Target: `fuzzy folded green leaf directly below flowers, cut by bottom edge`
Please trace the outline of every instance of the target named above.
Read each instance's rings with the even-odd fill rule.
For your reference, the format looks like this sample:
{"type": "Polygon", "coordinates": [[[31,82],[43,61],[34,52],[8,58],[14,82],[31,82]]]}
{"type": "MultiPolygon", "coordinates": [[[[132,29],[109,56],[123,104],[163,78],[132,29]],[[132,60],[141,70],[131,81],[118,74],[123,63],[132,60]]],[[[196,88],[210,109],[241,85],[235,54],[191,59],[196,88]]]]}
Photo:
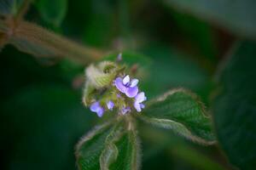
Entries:
{"type": "Polygon", "coordinates": [[[136,170],[139,167],[137,133],[125,130],[123,124],[104,124],[80,140],[76,151],[79,169],[136,170]]]}

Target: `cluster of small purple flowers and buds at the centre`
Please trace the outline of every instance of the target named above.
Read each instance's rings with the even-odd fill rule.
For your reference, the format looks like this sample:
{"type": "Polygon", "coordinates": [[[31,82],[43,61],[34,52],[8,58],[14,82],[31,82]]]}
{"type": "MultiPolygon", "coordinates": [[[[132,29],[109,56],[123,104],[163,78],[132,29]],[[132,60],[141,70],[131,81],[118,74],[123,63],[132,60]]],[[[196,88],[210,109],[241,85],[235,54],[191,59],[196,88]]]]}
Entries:
{"type": "Polygon", "coordinates": [[[119,114],[125,115],[131,112],[132,106],[137,112],[141,112],[145,107],[143,101],[147,100],[144,92],[139,92],[137,86],[138,79],[131,79],[129,75],[125,77],[116,77],[113,80],[113,90],[111,95],[104,104],[101,105],[99,101],[95,101],[90,105],[90,111],[96,112],[97,116],[103,116],[104,111],[113,111],[114,107],[119,114]]]}

